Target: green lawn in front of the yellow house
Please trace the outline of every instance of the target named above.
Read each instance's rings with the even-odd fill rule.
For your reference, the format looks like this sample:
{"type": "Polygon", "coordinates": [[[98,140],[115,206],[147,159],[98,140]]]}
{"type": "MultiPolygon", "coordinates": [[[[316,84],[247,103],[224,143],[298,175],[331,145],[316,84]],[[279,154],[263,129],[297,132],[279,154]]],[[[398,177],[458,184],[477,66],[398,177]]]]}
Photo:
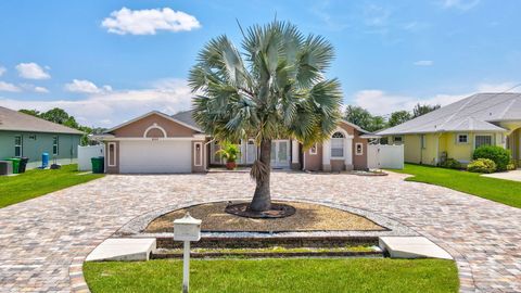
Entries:
{"type": "Polygon", "coordinates": [[[403,170],[392,170],[414,175],[407,181],[417,181],[446,187],[491,201],[521,207],[521,182],[501,180],[454,169],[405,164],[403,170]]]}

